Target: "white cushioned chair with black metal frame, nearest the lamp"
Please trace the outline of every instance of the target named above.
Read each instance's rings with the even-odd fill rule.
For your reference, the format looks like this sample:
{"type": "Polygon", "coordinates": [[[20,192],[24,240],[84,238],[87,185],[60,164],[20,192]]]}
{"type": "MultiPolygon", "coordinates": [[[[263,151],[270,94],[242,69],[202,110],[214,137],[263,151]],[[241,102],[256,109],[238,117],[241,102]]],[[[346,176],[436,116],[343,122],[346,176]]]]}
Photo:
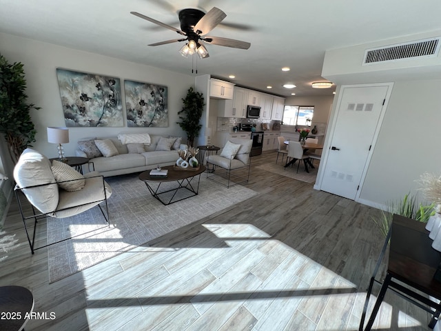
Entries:
{"type": "MultiPolygon", "coordinates": [[[[16,182],[14,192],[19,203],[21,218],[23,219],[32,254],[34,254],[35,250],[54,244],[47,243],[41,247],[35,247],[37,223],[41,219],[47,217],[70,217],[98,205],[105,221],[109,223],[107,198],[112,194],[112,188],[98,172],[85,174],[83,179],[57,182],[51,170],[50,160],[36,150],[27,148],[21,154],[17,165],[14,167],[14,180],[16,182]],[[59,187],[59,183],[78,180],[84,181],[84,186],[80,190],[67,191],[59,187]],[[32,214],[30,214],[30,208],[25,208],[26,200],[32,207],[32,214]],[[105,203],[106,212],[103,211],[100,203],[105,203]],[[30,238],[30,230],[27,225],[29,220],[33,220],[34,223],[32,239],[30,238]]],[[[71,238],[73,237],[61,241],[71,238]]]]}

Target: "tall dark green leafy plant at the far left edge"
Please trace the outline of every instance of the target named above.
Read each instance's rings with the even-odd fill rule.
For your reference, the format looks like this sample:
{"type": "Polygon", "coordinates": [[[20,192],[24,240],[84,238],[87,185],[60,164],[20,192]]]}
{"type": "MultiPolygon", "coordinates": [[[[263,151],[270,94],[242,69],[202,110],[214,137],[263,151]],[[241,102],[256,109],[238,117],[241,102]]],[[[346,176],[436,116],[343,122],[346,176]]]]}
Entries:
{"type": "Polygon", "coordinates": [[[14,163],[21,152],[35,141],[37,131],[30,117],[30,110],[39,110],[33,103],[26,103],[26,81],[23,64],[8,63],[0,54],[0,132],[8,143],[8,151],[14,163]]]}

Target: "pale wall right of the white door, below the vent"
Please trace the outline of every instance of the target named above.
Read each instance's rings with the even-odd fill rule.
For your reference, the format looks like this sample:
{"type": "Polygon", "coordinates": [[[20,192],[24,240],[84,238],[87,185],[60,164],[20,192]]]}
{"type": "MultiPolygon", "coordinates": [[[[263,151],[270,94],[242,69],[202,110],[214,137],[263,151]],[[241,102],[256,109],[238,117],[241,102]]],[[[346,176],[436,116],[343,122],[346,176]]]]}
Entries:
{"type": "Polygon", "coordinates": [[[360,199],[386,204],[441,174],[441,79],[396,81],[360,199]]]}

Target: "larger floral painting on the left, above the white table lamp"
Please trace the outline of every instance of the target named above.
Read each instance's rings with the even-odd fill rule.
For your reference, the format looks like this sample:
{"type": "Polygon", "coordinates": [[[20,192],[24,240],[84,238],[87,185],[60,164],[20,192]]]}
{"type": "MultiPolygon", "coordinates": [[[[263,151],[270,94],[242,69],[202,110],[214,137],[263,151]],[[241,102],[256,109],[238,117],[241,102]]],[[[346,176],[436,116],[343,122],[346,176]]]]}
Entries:
{"type": "Polygon", "coordinates": [[[119,78],[57,68],[68,127],[124,126],[119,78]]]}

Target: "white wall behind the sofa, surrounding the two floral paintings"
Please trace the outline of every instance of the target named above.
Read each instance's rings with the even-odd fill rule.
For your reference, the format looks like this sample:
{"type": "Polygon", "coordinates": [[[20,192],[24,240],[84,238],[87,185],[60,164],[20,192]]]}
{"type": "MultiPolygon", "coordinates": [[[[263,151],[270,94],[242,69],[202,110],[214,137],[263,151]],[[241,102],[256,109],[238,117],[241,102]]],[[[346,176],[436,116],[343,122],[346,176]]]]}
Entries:
{"type": "MultiPolygon", "coordinates": [[[[0,33],[0,50],[10,63],[19,61],[24,65],[25,78],[28,83],[28,101],[41,107],[41,110],[32,112],[32,119],[37,129],[37,142],[34,143],[34,148],[48,157],[58,157],[58,154],[57,146],[47,142],[46,128],[65,126],[56,68],[104,74],[121,79],[125,127],[70,128],[70,143],[63,144],[66,155],[74,155],[76,141],[81,138],[111,137],[120,132],[147,131],[152,134],[173,134],[184,137],[184,140],[187,139],[185,132],[176,124],[176,121],[178,121],[177,112],[182,108],[181,99],[185,97],[188,88],[194,86],[194,77],[190,75],[55,46],[11,34],[0,33]],[[125,79],[167,86],[168,128],[127,128],[123,89],[125,79]]],[[[147,49],[145,56],[148,57],[147,49]]]]}

